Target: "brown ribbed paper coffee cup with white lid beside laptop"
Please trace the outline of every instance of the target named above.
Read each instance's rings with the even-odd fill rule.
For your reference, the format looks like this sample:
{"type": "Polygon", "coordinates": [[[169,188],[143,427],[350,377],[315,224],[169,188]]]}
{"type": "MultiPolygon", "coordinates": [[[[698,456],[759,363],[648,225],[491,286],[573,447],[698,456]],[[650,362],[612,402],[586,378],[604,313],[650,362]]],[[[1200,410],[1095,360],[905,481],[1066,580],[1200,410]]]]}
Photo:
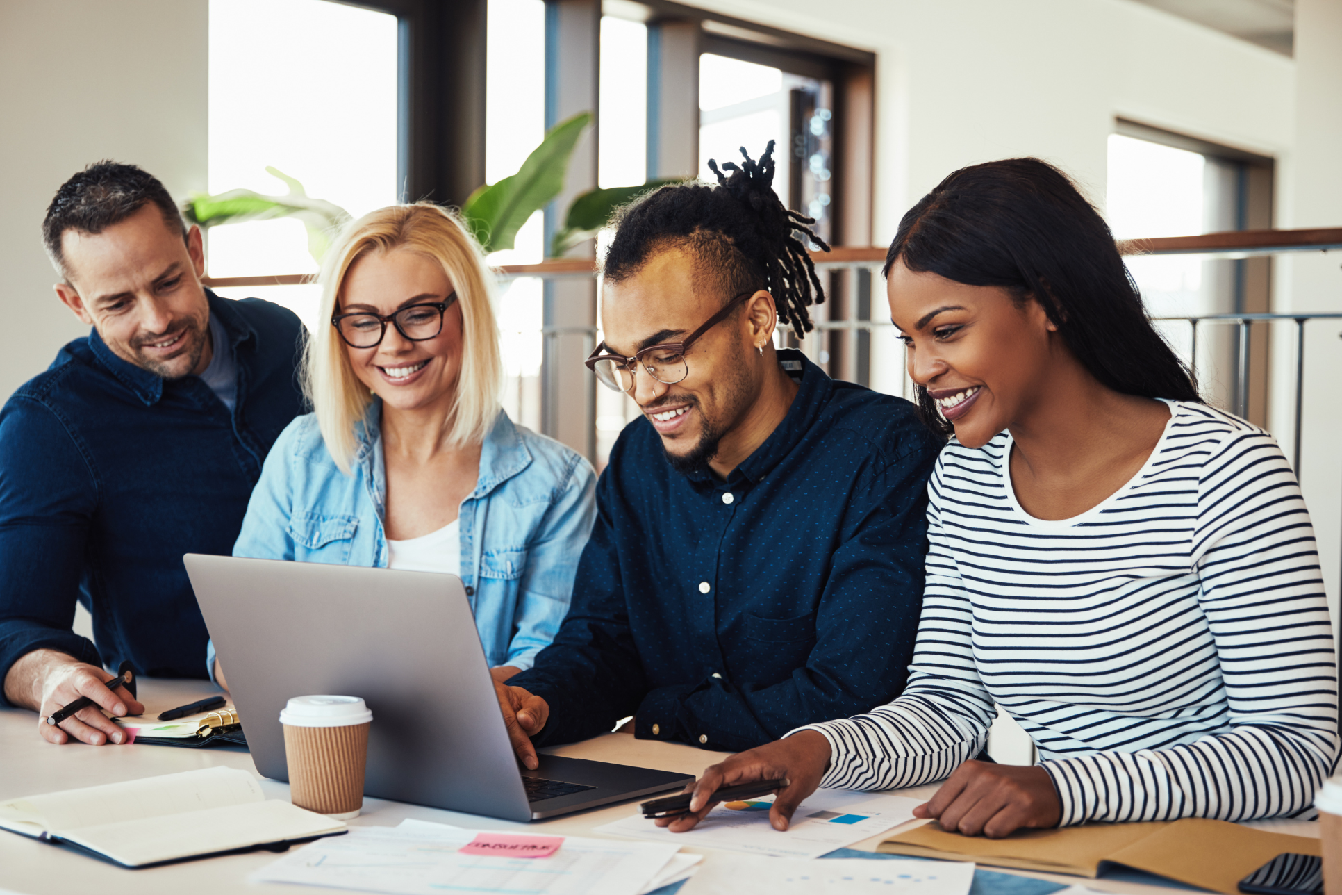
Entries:
{"type": "Polygon", "coordinates": [[[364,808],[364,766],[373,713],[358,696],[294,696],[279,713],[289,759],[289,796],[299,808],[338,820],[364,808]]]}

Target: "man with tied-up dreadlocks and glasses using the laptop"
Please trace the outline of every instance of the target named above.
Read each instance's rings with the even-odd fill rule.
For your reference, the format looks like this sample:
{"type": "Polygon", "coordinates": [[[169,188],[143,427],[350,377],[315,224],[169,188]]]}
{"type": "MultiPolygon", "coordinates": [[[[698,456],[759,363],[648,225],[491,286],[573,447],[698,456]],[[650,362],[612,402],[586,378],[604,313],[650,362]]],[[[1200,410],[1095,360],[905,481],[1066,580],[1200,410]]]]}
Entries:
{"type": "MultiPolygon", "coordinates": [[[[741,150],[745,156],[745,149],[741,150]]],[[[535,666],[498,684],[513,745],[609,731],[715,750],[866,711],[903,690],[922,602],[926,483],[941,444],[907,401],[800,352],[820,282],[770,187],[773,144],[718,185],[627,208],[588,366],[628,392],[573,604],[535,666]]]]}

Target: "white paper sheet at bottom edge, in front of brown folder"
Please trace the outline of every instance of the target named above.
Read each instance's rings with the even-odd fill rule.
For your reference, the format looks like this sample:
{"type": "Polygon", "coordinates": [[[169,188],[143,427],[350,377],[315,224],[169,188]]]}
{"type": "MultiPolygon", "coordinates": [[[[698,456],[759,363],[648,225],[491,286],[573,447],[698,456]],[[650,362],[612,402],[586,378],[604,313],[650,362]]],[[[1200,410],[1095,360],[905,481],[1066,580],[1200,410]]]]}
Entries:
{"type": "Polygon", "coordinates": [[[973,864],[953,861],[711,855],[679,895],[968,895],[973,880],[973,864]]]}

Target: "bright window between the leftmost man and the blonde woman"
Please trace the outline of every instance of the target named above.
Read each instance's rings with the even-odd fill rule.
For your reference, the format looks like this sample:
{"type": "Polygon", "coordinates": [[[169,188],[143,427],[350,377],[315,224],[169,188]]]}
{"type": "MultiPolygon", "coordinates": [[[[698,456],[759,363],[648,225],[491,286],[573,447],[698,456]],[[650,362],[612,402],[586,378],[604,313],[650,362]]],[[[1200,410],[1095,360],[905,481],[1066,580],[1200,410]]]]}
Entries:
{"type": "MultiPolygon", "coordinates": [[[[283,195],[272,166],[358,216],[396,201],[396,16],[329,0],[211,0],[209,192],[283,195]]],[[[212,227],[211,276],[309,274],[295,219],[212,227]]],[[[315,286],[221,288],[311,326],[315,286]]]]}

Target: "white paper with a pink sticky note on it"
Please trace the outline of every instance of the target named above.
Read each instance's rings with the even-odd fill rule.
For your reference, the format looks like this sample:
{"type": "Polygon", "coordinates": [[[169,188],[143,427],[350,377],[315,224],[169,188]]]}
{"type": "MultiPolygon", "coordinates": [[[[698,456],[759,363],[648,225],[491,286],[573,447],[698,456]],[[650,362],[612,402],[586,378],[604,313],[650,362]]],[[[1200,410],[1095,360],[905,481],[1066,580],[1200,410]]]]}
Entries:
{"type": "Polygon", "coordinates": [[[679,845],[565,837],[550,857],[460,855],[478,833],[424,821],[356,827],[280,857],[252,883],[305,883],[392,895],[526,892],[527,895],[637,895],[679,845]]]}

